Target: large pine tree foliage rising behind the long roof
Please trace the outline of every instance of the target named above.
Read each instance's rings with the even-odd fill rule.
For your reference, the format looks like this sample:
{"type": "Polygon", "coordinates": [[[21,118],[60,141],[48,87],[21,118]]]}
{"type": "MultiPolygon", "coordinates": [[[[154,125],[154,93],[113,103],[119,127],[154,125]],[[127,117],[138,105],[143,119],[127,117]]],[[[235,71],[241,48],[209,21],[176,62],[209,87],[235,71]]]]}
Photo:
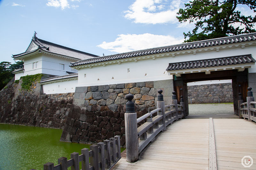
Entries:
{"type": "Polygon", "coordinates": [[[180,9],[177,19],[182,22],[195,22],[192,33],[183,33],[185,42],[193,42],[212,38],[239,35],[256,32],[253,26],[255,16],[244,16],[237,9],[241,5],[248,6],[256,12],[256,0],[194,0],[185,4],[185,9],[180,9]],[[240,6],[238,6],[240,5],[240,6]],[[234,27],[239,24],[242,27],[234,27]],[[245,28],[243,28],[245,27],[245,28]],[[198,31],[201,31],[198,33],[198,31]]]}

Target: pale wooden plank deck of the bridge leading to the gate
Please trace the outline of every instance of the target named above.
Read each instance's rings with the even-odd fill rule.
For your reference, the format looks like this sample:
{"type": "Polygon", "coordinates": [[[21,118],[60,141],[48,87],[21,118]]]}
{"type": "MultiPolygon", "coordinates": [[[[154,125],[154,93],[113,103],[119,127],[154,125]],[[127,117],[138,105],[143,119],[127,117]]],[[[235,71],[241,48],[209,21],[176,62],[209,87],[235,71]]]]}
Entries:
{"type": "MultiPolygon", "coordinates": [[[[244,156],[254,158],[256,125],[242,119],[213,119],[217,169],[245,169],[244,156]]],[[[209,119],[183,119],[156,137],[135,163],[121,158],[116,170],[209,169],[209,119]]]]}

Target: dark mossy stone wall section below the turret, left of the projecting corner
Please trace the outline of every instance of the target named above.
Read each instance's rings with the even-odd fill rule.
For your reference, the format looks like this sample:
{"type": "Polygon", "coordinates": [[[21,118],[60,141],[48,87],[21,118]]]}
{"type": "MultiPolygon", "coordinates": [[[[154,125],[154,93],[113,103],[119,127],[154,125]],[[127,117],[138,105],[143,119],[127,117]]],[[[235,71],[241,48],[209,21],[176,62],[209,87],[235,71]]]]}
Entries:
{"type": "Polygon", "coordinates": [[[29,91],[13,83],[0,92],[0,122],[19,125],[64,128],[73,102],[73,93],[41,95],[41,85],[34,82],[29,91]]]}

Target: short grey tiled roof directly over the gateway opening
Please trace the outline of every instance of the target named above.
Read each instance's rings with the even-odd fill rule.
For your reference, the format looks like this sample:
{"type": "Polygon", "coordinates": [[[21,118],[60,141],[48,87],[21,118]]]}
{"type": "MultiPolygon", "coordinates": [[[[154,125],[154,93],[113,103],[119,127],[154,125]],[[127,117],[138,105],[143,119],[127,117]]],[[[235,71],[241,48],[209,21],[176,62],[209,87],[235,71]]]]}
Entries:
{"type": "Polygon", "coordinates": [[[170,70],[184,70],[193,68],[203,68],[203,67],[215,67],[215,66],[227,66],[245,63],[255,63],[256,60],[252,58],[251,54],[224,58],[213,58],[195,61],[186,61],[179,63],[169,63],[167,71],[170,70]]]}

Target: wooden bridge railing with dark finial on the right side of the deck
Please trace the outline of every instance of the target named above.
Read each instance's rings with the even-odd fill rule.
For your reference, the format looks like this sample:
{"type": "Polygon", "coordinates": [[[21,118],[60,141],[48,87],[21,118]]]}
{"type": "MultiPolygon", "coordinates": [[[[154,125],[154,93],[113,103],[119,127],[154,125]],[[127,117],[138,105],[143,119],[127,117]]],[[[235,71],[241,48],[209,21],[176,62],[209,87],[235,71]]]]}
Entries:
{"type": "Polygon", "coordinates": [[[248,87],[246,102],[243,103],[242,99],[240,99],[241,93],[239,93],[238,104],[240,105],[239,108],[239,118],[247,118],[248,120],[253,120],[256,122],[256,108],[254,102],[254,97],[252,96],[252,88],[248,87]]]}

